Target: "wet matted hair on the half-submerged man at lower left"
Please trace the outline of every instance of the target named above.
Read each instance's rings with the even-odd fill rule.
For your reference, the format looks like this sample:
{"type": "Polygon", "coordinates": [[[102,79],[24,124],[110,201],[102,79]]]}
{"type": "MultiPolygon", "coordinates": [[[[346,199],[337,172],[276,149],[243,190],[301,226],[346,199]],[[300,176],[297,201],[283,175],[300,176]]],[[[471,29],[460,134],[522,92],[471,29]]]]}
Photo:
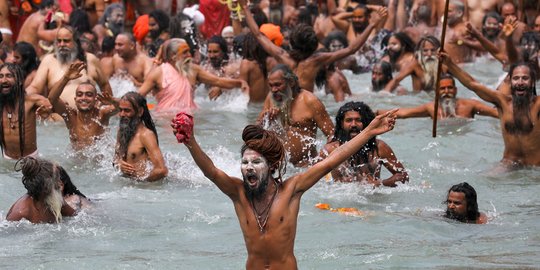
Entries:
{"type": "Polygon", "coordinates": [[[15,163],[15,171],[21,171],[22,183],[27,194],[35,200],[44,200],[53,189],[58,189],[59,172],[52,162],[34,157],[24,157],[15,163]]]}

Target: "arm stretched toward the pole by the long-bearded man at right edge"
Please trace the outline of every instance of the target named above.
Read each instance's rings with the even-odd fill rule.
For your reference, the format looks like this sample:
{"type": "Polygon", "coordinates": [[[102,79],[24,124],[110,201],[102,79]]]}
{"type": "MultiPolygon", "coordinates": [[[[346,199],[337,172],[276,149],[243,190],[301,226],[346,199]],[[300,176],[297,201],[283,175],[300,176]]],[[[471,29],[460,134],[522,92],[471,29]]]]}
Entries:
{"type": "Polygon", "coordinates": [[[469,75],[469,73],[457,66],[445,52],[439,53],[439,61],[443,61],[448,67],[448,72],[454,75],[454,77],[456,77],[469,90],[475,92],[476,95],[478,95],[481,99],[493,103],[499,107],[506,99],[504,94],[493,91],[487,88],[485,85],[477,82],[471,75],[469,75]]]}

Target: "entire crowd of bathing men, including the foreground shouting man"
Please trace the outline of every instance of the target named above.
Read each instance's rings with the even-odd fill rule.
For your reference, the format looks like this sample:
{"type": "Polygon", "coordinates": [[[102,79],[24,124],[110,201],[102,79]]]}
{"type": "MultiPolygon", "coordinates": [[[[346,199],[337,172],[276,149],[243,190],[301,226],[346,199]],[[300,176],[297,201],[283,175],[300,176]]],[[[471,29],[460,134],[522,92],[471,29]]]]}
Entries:
{"type": "MultiPolygon", "coordinates": [[[[62,166],[40,157],[38,118],[64,121],[73,150],[84,151],[118,117],[114,166],[128,178],[159,181],[168,168],[153,118],[181,112],[173,132],[231,198],[249,269],[296,269],[300,198],[325,175],[373,186],[409,181],[392,148],[376,138],[396,118],[498,118],[501,169],[540,166],[537,1],[449,0],[442,41],[444,0],[111,2],[0,5],[0,146],[5,159],[18,160],[28,191],[7,220],[59,222],[90,205],[62,166]],[[497,89],[462,68],[478,57],[508,72],[497,89]],[[371,73],[374,92],[438,91],[439,100],[373,110],[377,104],[352,100],[348,72],[371,73]],[[411,85],[401,85],[407,77],[411,85]],[[111,87],[113,78],[134,91],[111,87]],[[458,98],[456,79],[485,102],[458,98]],[[242,133],[243,179],[215,167],[193,132],[195,91],[217,99],[233,88],[263,107],[242,133]],[[316,89],[346,101],[334,121],[316,89]],[[153,108],[148,95],[157,101],[153,108]],[[327,138],[319,150],[317,130],[327,138]],[[301,172],[285,179],[287,163],[301,172]],[[381,178],[382,167],[390,177],[381,178]]],[[[446,217],[488,221],[466,182],[446,197],[446,217]]]]}

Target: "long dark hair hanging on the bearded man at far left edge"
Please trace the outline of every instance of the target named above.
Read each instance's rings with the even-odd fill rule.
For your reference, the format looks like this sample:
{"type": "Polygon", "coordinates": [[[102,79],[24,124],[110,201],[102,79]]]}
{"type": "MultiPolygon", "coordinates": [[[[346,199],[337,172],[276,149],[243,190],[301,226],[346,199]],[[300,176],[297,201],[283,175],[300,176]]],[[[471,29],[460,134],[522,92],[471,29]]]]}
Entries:
{"type": "MultiPolygon", "coordinates": [[[[20,155],[24,155],[24,137],[25,137],[25,129],[24,129],[24,121],[25,121],[25,113],[24,113],[24,99],[26,96],[26,91],[24,90],[24,76],[23,71],[19,65],[12,64],[12,63],[4,63],[0,65],[0,70],[3,68],[7,68],[11,74],[13,74],[13,77],[15,79],[15,84],[12,86],[13,89],[13,98],[17,102],[17,104],[14,104],[15,110],[17,110],[18,118],[18,124],[19,124],[19,150],[20,155]]],[[[2,100],[0,102],[0,112],[4,112],[4,105],[5,102],[2,100]]],[[[4,138],[4,121],[0,121],[0,148],[2,150],[2,153],[4,152],[4,146],[6,144],[5,138],[4,138]]]]}

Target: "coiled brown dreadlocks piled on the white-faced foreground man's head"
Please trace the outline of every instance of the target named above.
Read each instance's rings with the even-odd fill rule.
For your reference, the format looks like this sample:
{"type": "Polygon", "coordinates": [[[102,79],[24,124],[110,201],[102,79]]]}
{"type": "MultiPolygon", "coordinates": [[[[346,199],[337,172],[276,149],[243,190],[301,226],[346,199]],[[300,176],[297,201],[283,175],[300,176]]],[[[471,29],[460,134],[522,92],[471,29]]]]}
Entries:
{"type": "Polygon", "coordinates": [[[282,183],[286,165],[285,148],[277,134],[258,125],[248,125],[242,131],[242,140],[244,145],[240,150],[240,154],[244,155],[247,149],[261,154],[268,161],[272,175],[274,172],[278,172],[278,176],[274,178],[274,181],[282,183]]]}

